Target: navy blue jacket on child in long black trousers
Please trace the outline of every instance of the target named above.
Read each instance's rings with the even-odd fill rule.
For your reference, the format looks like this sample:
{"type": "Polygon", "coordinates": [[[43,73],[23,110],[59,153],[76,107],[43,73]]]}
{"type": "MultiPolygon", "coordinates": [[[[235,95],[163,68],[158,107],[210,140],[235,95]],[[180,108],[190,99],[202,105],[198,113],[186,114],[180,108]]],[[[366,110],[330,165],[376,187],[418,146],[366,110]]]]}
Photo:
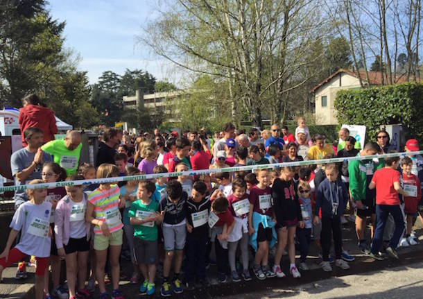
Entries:
{"type": "Polygon", "coordinates": [[[339,178],[335,182],[329,182],[329,180],[325,178],[318,187],[314,214],[318,216],[321,208],[322,216],[340,216],[343,214],[345,207],[347,207],[347,202],[348,194],[345,184],[339,178]],[[338,209],[335,215],[332,213],[332,203],[338,203],[338,209]]]}

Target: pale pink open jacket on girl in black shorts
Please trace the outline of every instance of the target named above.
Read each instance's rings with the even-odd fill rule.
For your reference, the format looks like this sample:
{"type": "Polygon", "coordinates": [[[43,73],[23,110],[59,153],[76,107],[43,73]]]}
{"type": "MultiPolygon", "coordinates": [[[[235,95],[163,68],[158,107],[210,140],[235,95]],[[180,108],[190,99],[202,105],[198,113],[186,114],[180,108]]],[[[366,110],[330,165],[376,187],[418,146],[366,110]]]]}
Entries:
{"type": "MultiPolygon", "coordinates": [[[[84,200],[88,202],[88,196],[84,192],[84,200]]],[[[64,196],[59,200],[58,205],[55,207],[54,214],[54,234],[55,244],[58,249],[63,248],[63,245],[67,245],[69,242],[70,235],[70,218],[71,209],[69,208],[69,196],[64,196]]],[[[86,222],[87,241],[91,235],[91,224],[86,222]]]]}

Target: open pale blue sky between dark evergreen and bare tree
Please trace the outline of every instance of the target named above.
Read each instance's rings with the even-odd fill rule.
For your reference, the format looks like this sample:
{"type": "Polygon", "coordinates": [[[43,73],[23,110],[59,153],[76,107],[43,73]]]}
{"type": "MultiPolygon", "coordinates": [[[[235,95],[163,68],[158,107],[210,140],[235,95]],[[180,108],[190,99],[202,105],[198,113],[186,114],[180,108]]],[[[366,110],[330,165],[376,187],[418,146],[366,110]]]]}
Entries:
{"type": "Polygon", "coordinates": [[[158,16],[157,0],[49,0],[53,19],[66,21],[64,46],[80,55],[78,69],[96,83],[103,71],[142,69],[175,83],[173,65],[137,42],[142,26],[158,16]]]}

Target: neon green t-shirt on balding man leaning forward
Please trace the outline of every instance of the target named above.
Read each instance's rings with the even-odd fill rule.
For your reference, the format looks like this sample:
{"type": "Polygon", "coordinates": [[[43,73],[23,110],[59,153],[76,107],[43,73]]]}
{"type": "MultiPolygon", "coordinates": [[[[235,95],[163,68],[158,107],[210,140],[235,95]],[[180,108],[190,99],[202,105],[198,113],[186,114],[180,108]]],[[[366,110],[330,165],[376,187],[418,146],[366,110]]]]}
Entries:
{"type": "Polygon", "coordinates": [[[58,139],[47,142],[41,149],[52,155],[54,162],[66,170],[67,176],[71,176],[78,170],[79,155],[82,147],[83,144],[80,143],[73,151],[69,151],[64,145],[64,139],[58,139]]]}

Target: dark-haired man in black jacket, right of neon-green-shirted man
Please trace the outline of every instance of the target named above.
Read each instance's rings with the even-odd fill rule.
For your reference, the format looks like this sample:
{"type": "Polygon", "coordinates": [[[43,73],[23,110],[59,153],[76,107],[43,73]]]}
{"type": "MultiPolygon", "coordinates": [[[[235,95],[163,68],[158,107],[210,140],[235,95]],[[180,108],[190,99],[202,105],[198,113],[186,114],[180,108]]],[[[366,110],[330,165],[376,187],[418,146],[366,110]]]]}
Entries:
{"type": "Polygon", "coordinates": [[[114,164],[116,148],[121,143],[122,133],[115,128],[108,128],[103,133],[103,140],[98,144],[96,167],[103,163],[114,164]]]}

